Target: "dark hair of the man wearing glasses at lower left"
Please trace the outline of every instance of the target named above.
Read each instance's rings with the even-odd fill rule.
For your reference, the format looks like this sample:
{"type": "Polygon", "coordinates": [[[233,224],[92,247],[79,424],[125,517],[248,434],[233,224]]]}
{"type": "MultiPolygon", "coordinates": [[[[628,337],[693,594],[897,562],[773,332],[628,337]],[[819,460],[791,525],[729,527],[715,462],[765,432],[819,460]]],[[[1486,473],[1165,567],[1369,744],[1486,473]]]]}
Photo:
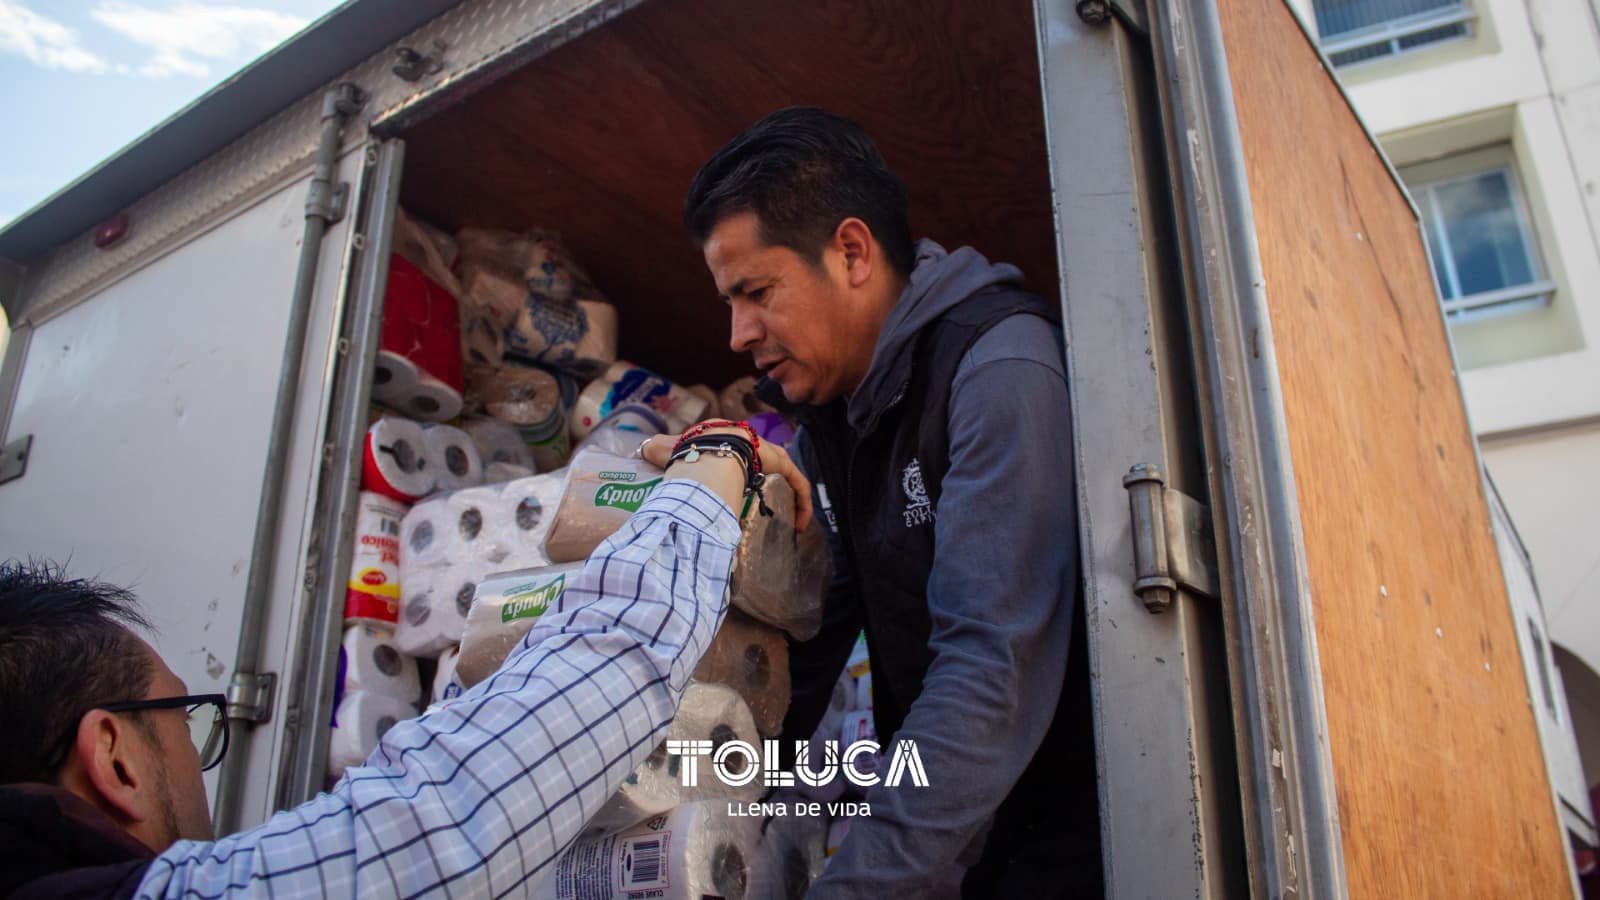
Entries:
{"type": "Polygon", "coordinates": [[[0,562],[0,785],[54,783],[85,713],[144,698],[154,666],[131,625],[149,628],[123,588],[0,562]]]}

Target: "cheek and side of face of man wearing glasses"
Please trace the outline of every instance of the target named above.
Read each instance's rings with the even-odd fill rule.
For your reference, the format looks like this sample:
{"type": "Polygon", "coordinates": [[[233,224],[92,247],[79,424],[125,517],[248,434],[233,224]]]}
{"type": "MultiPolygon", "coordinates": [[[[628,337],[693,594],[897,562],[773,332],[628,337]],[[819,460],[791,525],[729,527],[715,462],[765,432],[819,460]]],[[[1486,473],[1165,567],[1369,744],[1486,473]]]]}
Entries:
{"type": "MultiPolygon", "coordinates": [[[[182,679],[166,668],[155,650],[146,644],[150,655],[152,677],[146,700],[163,700],[168,697],[184,697],[189,689],[182,679]]],[[[210,708],[203,708],[198,716],[211,716],[210,708]]],[[[200,749],[195,748],[189,735],[187,709],[146,709],[139,713],[154,732],[155,741],[150,746],[155,764],[157,802],[162,809],[162,831],[166,846],[173,841],[210,841],[211,810],[205,799],[205,781],[200,777],[200,749]]]]}

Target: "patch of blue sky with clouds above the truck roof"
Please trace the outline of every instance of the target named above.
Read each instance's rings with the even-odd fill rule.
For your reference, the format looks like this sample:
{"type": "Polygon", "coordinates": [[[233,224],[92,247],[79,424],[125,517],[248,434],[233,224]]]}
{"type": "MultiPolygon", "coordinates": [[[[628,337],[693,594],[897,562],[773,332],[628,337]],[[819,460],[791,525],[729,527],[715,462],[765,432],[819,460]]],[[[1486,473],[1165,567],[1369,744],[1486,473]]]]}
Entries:
{"type": "Polygon", "coordinates": [[[341,0],[0,0],[0,226],[341,0]]]}

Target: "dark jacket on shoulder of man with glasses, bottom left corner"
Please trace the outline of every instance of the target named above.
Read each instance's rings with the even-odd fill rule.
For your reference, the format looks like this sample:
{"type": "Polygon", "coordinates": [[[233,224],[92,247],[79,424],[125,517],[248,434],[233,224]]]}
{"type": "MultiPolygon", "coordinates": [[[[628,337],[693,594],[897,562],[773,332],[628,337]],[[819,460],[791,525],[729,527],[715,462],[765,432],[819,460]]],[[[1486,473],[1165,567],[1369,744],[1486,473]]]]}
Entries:
{"type": "Polygon", "coordinates": [[[70,791],[0,786],[0,897],[133,897],[155,854],[70,791]]]}

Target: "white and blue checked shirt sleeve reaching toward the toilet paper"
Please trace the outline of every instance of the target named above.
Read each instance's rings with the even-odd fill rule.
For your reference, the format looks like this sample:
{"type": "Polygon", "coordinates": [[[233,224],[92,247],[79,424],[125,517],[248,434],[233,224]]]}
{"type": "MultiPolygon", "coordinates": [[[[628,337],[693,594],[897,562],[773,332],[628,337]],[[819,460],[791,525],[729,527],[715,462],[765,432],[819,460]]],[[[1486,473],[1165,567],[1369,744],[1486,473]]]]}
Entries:
{"type": "Polygon", "coordinates": [[[523,895],[666,737],[717,631],[739,522],[662,482],[506,665],[394,725],[330,793],[155,858],[139,897],[523,895]]]}

